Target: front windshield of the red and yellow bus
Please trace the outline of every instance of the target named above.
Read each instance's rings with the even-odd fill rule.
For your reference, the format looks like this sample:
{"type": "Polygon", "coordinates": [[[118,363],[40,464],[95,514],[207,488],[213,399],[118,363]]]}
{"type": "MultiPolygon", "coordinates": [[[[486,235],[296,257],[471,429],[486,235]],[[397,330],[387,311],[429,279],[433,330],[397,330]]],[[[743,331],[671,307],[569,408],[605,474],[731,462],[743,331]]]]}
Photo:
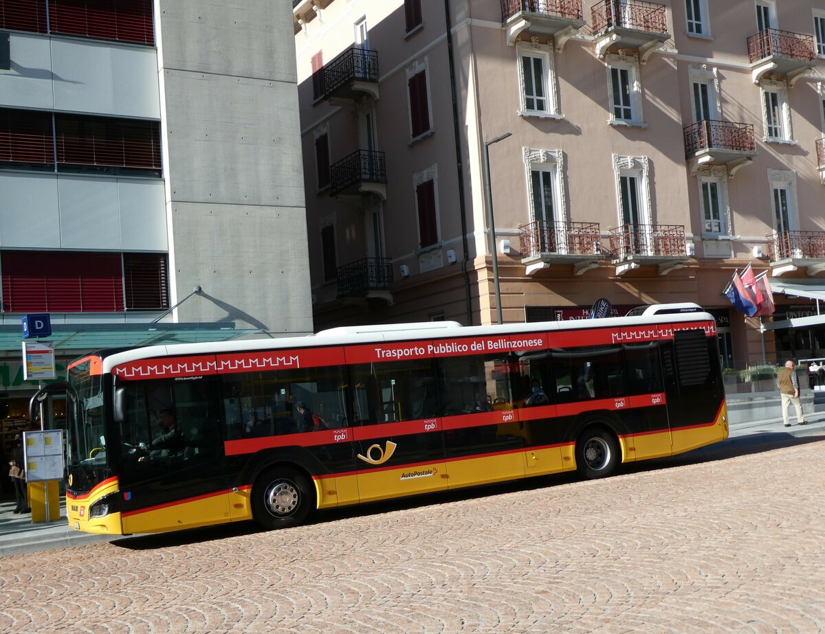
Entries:
{"type": "Polygon", "coordinates": [[[92,359],[68,371],[68,472],[73,491],[88,491],[108,477],[103,418],[103,377],[91,373],[92,359]]]}

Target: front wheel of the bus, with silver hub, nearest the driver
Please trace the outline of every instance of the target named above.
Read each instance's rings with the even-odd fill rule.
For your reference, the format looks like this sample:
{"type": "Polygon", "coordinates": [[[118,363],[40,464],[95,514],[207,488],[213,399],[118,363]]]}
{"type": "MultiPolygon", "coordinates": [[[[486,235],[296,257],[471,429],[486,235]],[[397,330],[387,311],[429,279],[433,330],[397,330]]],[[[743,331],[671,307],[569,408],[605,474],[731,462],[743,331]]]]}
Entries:
{"type": "Polygon", "coordinates": [[[269,530],[298,526],[314,502],[309,478],[291,467],[268,469],[252,485],[252,518],[269,530]]]}

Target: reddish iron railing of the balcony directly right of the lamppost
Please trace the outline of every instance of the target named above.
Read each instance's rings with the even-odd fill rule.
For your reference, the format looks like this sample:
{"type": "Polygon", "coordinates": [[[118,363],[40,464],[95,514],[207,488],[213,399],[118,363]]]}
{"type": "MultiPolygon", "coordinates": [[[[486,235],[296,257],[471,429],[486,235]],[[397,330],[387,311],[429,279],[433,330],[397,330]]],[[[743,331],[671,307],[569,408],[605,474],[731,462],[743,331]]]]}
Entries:
{"type": "Polygon", "coordinates": [[[601,253],[599,223],[555,223],[534,220],[519,227],[521,256],[592,256],[601,253]]]}

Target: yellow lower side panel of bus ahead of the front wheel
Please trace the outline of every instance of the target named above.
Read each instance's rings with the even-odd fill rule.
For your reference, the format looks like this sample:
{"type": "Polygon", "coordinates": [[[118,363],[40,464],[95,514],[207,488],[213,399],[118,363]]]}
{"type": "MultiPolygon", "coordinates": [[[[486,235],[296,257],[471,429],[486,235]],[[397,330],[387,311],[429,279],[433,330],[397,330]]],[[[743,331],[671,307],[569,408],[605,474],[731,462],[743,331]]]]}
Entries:
{"type": "Polygon", "coordinates": [[[229,493],[210,495],[123,517],[123,532],[159,533],[179,528],[196,528],[229,522],[229,493]]]}

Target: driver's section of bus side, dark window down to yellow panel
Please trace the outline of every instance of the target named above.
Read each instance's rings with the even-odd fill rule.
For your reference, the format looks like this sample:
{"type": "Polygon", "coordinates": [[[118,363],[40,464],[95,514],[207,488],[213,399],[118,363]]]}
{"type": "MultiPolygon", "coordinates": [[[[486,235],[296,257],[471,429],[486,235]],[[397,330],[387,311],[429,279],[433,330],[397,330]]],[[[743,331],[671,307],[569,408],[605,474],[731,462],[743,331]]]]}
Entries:
{"type": "Polygon", "coordinates": [[[120,500],[124,533],[229,520],[217,378],[124,383],[120,500]]]}

